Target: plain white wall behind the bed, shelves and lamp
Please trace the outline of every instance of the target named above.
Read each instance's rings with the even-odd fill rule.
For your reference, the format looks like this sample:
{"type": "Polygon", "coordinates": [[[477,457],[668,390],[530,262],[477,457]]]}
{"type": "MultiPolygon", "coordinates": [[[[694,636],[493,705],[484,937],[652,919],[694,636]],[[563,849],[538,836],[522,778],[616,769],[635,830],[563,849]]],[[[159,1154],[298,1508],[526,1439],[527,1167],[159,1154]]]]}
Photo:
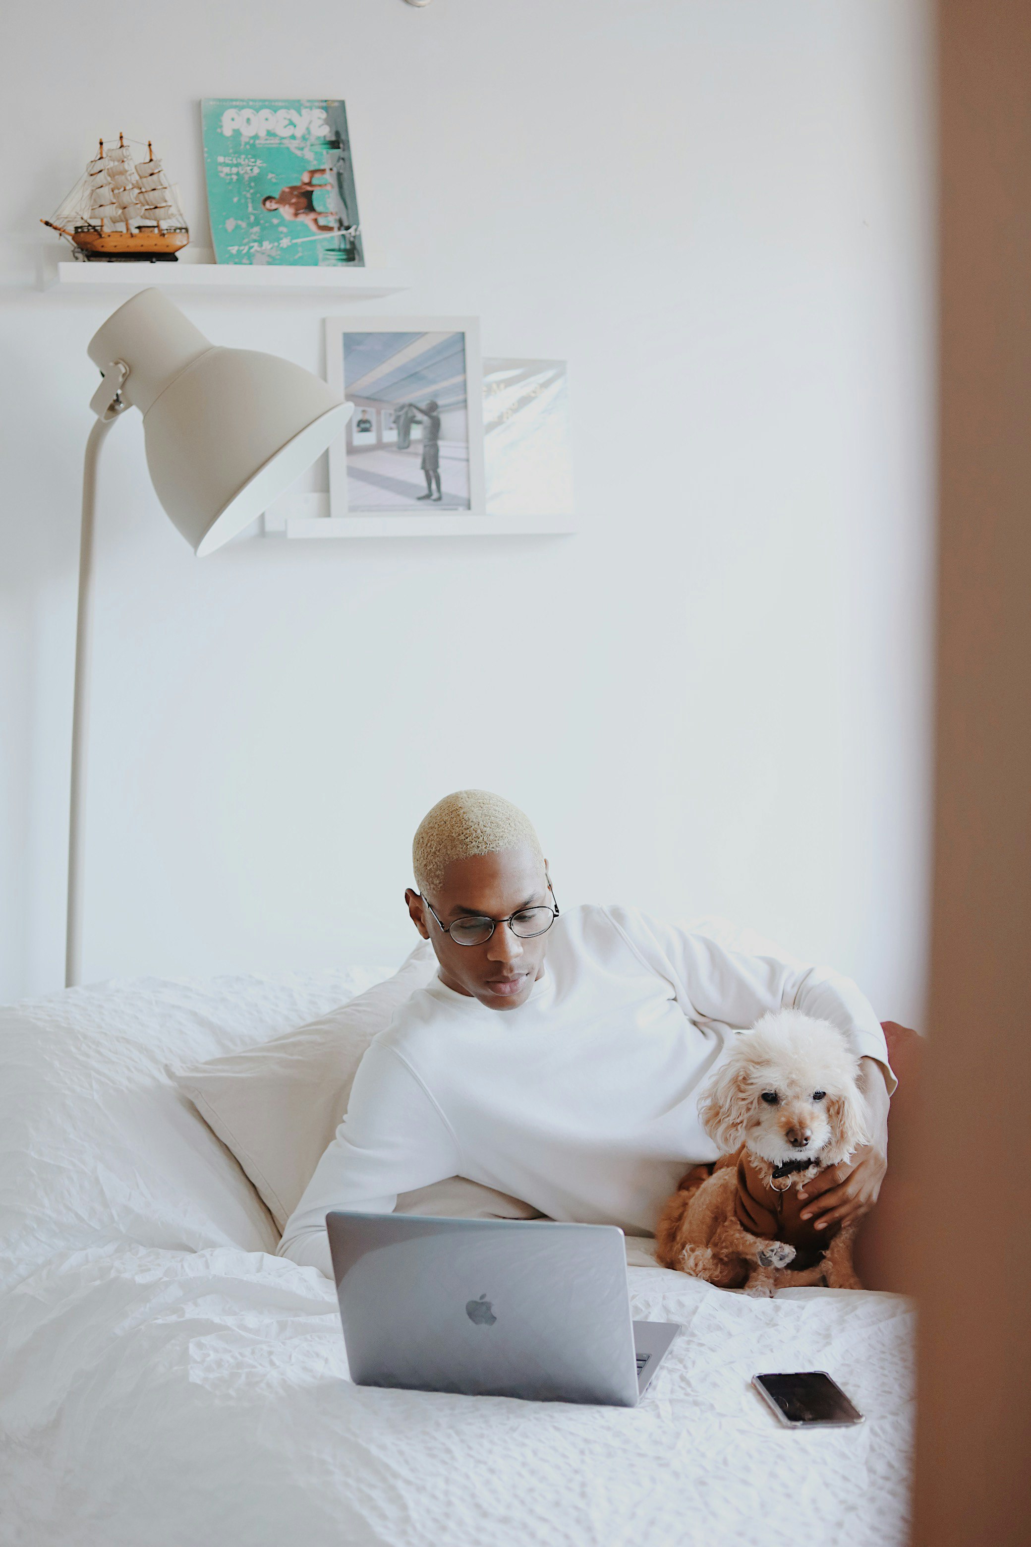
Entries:
{"type": "MultiPolygon", "coordinates": [[[[85,343],[111,309],[26,283],[36,217],[125,128],[204,244],[198,99],[339,94],[369,260],[414,275],[397,309],[569,359],[583,534],[199,562],[119,425],[87,978],[393,959],[416,821],[482,784],[532,812],[564,907],[722,913],[920,1013],[926,50],[917,0],[11,8],[2,998],[60,984],[85,343]]],[[[322,365],[325,303],[184,309],[322,365]]]]}

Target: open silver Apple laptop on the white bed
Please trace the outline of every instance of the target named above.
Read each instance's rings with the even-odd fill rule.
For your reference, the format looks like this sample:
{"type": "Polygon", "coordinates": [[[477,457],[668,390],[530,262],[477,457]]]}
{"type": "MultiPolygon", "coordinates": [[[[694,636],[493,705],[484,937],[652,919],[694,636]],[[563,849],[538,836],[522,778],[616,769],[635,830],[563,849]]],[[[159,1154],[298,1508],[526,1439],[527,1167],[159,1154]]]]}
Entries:
{"type": "Polygon", "coordinates": [[[632,1408],[680,1330],[632,1321],[623,1231],[326,1214],[351,1378],[632,1408]]]}

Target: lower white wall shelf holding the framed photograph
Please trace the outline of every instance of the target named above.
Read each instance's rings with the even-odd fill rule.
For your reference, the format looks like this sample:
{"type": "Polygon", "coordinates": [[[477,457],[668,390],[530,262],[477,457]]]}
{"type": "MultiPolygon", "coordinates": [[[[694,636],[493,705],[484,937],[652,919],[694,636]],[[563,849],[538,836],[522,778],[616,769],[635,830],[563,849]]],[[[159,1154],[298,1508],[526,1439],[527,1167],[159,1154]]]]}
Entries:
{"type": "Polygon", "coordinates": [[[284,495],[264,515],[266,537],[564,537],[580,531],[575,515],[329,515],[328,493],[284,495]]]}

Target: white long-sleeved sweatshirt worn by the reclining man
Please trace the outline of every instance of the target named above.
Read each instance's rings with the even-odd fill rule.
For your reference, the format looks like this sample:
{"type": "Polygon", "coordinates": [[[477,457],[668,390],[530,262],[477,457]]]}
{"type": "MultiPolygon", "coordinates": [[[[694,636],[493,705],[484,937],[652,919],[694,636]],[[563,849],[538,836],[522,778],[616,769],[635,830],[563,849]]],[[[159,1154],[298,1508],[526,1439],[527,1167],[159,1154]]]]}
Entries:
{"type": "Polygon", "coordinates": [[[651,1235],[688,1165],[714,1160],[700,1088],[734,1030],[798,1009],[887,1063],[867,999],[827,967],[743,956],[631,908],[564,913],[516,1010],[434,978],[371,1043],[280,1255],[332,1275],[326,1213],[390,1213],[450,1176],[552,1219],[651,1235]]]}

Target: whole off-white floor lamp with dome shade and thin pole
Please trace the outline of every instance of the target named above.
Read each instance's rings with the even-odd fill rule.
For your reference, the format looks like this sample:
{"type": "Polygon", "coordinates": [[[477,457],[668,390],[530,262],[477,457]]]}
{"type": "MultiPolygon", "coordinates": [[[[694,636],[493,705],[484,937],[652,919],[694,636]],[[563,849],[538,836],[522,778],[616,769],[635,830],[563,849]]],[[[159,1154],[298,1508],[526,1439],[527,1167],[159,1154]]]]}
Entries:
{"type": "Polygon", "coordinates": [[[100,447],[127,408],[144,416],[147,467],[170,520],[198,557],[261,515],[325,452],[351,418],[311,371],[255,350],[209,343],[161,291],[133,295],[93,336],[104,381],[90,407],[79,549],[76,695],[65,984],[82,978],[85,753],[93,637],[93,514],[100,447]]]}

